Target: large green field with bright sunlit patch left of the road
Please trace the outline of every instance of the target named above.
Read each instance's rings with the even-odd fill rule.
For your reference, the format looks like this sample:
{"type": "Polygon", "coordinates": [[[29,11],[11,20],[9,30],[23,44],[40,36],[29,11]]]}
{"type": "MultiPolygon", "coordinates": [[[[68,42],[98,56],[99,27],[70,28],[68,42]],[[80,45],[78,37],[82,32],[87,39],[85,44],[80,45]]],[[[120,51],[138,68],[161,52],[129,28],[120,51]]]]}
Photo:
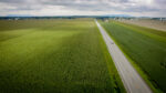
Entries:
{"type": "Polygon", "coordinates": [[[93,20],[0,21],[0,93],[124,93],[93,20]]]}

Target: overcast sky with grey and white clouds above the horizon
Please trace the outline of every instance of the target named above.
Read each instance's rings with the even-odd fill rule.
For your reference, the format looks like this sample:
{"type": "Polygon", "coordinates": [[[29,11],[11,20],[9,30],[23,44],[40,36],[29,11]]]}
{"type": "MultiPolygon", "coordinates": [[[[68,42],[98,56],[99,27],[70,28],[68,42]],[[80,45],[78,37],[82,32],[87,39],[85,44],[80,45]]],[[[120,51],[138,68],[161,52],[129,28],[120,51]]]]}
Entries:
{"type": "Polygon", "coordinates": [[[0,16],[166,17],[166,0],[0,0],[0,16]]]}

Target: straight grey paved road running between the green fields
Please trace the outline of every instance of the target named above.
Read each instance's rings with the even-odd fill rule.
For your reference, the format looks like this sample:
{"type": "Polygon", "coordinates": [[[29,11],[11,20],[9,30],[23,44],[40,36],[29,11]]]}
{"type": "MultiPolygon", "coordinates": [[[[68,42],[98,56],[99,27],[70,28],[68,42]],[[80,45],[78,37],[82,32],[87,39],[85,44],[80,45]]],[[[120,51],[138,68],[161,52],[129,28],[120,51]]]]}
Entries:
{"type": "Polygon", "coordinates": [[[123,52],[118,49],[118,46],[114,43],[114,41],[110,38],[106,31],[101,27],[101,24],[95,21],[108,49],[108,52],[115,63],[115,66],[120,73],[120,76],[123,81],[123,84],[127,91],[127,93],[152,93],[149,87],[139,76],[139,74],[135,71],[135,69],[131,65],[128,60],[125,58],[123,52]]]}

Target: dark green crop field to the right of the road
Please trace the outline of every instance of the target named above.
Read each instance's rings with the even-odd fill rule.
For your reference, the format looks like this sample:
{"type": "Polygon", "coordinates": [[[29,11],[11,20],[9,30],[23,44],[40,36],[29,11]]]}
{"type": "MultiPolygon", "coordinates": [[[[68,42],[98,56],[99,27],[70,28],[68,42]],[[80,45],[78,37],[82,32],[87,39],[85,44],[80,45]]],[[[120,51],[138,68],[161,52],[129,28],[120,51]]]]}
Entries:
{"type": "Polygon", "coordinates": [[[112,20],[101,23],[124,53],[146,73],[154,89],[166,92],[166,32],[112,20]]]}

